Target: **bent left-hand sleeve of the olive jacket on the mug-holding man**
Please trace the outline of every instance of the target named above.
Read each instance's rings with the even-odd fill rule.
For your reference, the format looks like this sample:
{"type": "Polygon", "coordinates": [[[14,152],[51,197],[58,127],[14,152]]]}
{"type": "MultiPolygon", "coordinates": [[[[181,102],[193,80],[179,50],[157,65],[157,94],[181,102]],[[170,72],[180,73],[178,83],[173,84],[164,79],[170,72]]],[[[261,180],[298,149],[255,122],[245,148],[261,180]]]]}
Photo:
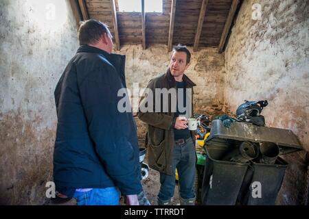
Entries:
{"type": "MultiPolygon", "coordinates": [[[[152,91],[153,96],[155,96],[155,82],[152,80],[148,83],[147,86],[148,89],[152,91]]],[[[142,104],[144,105],[144,101],[146,101],[147,94],[145,94],[144,97],[141,98],[141,101],[139,102],[139,106],[142,104]],[[146,96],[145,96],[146,95],[146,96]]],[[[153,99],[154,103],[154,111],[155,111],[155,98],[153,99]]],[[[176,118],[173,118],[172,116],[169,116],[164,113],[160,112],[142,112],[139,108],[138,117],[140,120],[142,120],[144,123],[147,123],[149,125],[152,125],[153,127],[157,127],[159,129],[166,129],[170,130],[174,128],[176,118]]]]}

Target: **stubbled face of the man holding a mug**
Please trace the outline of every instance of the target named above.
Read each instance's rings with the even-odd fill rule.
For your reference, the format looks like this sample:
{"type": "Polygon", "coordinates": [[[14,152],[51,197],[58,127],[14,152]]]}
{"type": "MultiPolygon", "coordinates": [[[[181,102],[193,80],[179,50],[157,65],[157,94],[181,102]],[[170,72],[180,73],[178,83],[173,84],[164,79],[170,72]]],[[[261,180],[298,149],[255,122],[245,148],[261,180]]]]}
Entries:
{"type": "Polygon", "coordinates": [[[183,74],[189,66],[190,63],[187,63],[187,53],[174,51],[170,60],[170,73],[172,73],[176,81],[182,80],[183,74]]]}

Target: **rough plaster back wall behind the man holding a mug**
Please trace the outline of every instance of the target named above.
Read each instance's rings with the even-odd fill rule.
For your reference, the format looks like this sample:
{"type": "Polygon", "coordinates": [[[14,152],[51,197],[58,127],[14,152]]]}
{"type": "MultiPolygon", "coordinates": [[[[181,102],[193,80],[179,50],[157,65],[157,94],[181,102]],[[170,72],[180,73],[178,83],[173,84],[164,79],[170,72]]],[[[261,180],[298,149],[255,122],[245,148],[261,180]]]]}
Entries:
{"type": "MultiPolygon", "coordinates": [[[[192,52],[192,48],[190,48],[192,52]]],[[[141,46],[124,46],[119,53],[126,55],[126,81],[133,93],[133,83],[146,88],[150,79],[166,73],[170,56],[165,45],[155,45],[146,50],[141,46]]],[[[225,75],[224,55],[216,49],[201,49],[192,52],[191,65],[185,74],[196,83],[194,88],[194,111],[206,114],[222,114],[223,79],[225,75]]],[[[138,100],[137,100],[138,101],[138,100]]],[[[133,101],[134,103],[138,103],[133,101]]],[[[137,120],[138,136],[144,138],[146,126],[137,120]]]]}

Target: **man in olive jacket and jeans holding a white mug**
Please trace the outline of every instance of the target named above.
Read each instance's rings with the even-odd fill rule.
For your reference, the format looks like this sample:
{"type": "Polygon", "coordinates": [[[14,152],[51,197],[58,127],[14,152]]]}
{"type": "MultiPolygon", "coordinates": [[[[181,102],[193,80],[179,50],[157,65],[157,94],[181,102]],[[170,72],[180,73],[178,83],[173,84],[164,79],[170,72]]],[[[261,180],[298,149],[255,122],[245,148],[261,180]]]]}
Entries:
{"type": "Polygon", "coordinates": [[[152,92],[152,96],[156,96],[152,99],[153,109],[143,110],[149,107],[148,101],[151,101],[147,93],[139,105],[139,119],[148,125],[146,134],[148,163],[151,168],[160,172],[161,188],[157,198],[159,205],[171,203],[176,168],[179,172],[181,205],[195,203],[195,140],[194,133],[187,129],[187,118],[192,117],[192,89],[196,84],[184,75],[185,70],[190,66],[190,57],[190,51],[185,46],[174,47],[168,72],[148,83],[146,90],[152,92]],[[155,93],[164,88],[171,91],[170,96],[166,100],[157,99],[160,95],[155,93]],[[173,89],[176,91],[172,92],[173,89]],[[183,92],[178,92],[181,89],[183,92]],[[185,107],[185,111],[182,112],[178,104],[180,99],[183,99],[182,103],[185,107]],[[176,109],[172,107],[173,101],[177,102],[176,109]],[[168,103],[168,107],[164,107],[164,103],[168,103]],[[158,105],[161,107],[159,111],[155,109],[158,105]]]}

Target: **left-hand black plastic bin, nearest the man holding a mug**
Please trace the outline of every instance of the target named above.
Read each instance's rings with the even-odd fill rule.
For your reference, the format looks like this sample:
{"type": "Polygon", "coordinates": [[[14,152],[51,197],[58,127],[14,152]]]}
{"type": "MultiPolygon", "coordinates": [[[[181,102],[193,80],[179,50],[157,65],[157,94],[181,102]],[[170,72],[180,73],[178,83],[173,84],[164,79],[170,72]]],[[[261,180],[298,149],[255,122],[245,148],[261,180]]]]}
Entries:
{"type": "MultiPolygon", "coordinates": [[[[214,143],[214,142],[213,142],[214,143]]],[[[206,145],[201,199],[203,205],[235,205],[249,164],[221,161],[230,142],[206,145]]]]}

